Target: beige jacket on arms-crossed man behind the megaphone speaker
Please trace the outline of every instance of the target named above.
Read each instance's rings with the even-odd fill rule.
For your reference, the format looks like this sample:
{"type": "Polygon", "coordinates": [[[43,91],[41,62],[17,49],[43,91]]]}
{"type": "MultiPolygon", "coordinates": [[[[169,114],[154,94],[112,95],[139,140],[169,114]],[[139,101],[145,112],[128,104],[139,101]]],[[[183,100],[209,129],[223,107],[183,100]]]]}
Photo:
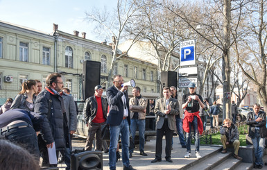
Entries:
{"type": "Polygon", "coordinates": [[[135,112],[138,112],[138,119],[144,120],[146,119],[146,112],[144,110],[146,109],[146,105],[148,103],[148,99],[141,96],[139,101],[137,100],[137,97],[132,97],[129,101],[129,105],[132,105],[132,109],[130,110],[130,119],[132,119],[135,112]],[[137,104],[138,102],[138,104],[137,104]]]}

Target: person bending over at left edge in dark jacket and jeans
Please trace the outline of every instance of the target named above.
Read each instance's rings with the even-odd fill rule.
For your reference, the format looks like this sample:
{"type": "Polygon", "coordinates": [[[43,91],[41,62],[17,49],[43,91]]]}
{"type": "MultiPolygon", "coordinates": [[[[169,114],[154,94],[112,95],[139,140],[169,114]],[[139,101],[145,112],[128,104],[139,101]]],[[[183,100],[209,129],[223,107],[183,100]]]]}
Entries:
{"type": "Polygon", "coordinates": [[[13,109],[0,114],[0,138],[19,144],[32,153],[39,162],[40,152],[36,133],[44,134],[46,146],[54,142],[46,117],[28,110],[13,109]]]}

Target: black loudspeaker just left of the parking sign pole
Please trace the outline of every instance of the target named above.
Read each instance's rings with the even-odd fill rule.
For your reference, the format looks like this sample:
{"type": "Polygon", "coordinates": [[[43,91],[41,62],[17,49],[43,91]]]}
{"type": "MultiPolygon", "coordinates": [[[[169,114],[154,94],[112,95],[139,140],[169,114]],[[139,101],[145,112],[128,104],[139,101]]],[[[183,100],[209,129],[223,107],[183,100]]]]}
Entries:
{"type": "Polygon", "coordinates": [[[162,71],[160,95],[163,96],[162,91],[164,87],[177,87],[177,72],[176,71],[162,71]]]}

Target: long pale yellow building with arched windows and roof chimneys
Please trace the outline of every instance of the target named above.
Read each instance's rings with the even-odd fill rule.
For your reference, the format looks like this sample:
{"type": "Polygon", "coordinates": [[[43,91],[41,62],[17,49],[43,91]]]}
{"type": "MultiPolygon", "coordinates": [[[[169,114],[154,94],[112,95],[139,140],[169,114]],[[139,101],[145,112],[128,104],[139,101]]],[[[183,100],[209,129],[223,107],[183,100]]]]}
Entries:
{"type": "MultiPolygon", "coordinates": [[[[101,62],[101,83],[107,85],[112,47],[87,40],[86,33],[81,35],[78,31],[59,31],[56,24],[49,34],[0,21],[0,105],[18,94],[24,80],[41,80],[44,87],[46,76],[52,72],[63,75],[64,86],[79,100],[84,60],[101,62]]],[[[143,92],[157,92],[157,67],[153,63],[123,57],[117,60],[115,70],[114,74],[123,75],[126,81],[134,78],[143,92]]]]}

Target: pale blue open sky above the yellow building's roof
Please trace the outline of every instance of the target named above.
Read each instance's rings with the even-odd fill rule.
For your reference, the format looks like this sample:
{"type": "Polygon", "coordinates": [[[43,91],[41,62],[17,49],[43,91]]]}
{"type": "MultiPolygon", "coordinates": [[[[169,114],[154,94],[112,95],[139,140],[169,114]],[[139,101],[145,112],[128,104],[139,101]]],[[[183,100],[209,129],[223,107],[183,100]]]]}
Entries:
{"type": "Polygon", "coordinates": [[[87,39],[102,42],[92,33],[94,26],[85,22],[85,11],[116,5],[115,0],[0,0],[0,20],[45,33],[52,33],[54,23],[60,31],[85,32],[87,39]]]}

